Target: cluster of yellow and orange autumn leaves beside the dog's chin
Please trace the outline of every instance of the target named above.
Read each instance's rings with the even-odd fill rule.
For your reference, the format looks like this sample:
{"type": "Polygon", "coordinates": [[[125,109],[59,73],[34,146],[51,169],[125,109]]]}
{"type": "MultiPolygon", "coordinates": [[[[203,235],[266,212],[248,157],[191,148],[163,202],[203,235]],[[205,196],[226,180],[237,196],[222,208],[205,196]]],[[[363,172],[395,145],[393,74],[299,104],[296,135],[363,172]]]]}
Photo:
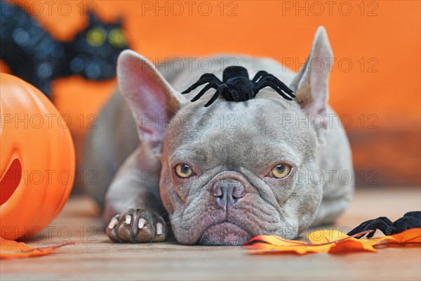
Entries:
{"type": "Polygon", "coordinates": [[[373,230],[355,235],[346,235],[338,230],[316,230],[307,235],[309,242],[286,240],[279,236],[260,235],[248,240],[243,247],[250,249],[250,254],[309,254],[329,253],[345,254],[356,251],[377,251],[380,247],[421,246],[421,228],[411,228],[394,235],[370,239],[356,239],[373,230]]]}

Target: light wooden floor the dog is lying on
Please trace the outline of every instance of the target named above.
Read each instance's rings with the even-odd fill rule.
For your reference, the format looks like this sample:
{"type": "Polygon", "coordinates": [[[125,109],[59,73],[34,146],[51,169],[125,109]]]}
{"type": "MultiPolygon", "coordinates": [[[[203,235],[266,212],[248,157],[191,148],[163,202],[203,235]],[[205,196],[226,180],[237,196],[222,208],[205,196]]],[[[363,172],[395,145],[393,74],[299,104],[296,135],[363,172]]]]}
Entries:
{"type": "MultiPolygon", "coordinates": [[[[358,190],[337,228],[421,209],[420,188],[358,190]]],[[[87,198],[72,198],[31,245],[76,244],[54,254],[1,260],[0,280],[421,280],[421,248],[346,255],[253,256],[241,247],[114,244],[87,198]]]]}

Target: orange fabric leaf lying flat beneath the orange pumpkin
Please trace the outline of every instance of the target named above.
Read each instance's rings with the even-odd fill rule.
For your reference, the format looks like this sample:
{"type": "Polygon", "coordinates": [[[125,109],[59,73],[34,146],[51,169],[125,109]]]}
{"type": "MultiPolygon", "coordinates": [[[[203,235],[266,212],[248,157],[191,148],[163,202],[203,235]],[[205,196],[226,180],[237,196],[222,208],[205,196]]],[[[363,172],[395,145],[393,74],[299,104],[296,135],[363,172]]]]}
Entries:
{"type": "Polygon", "coordinates": [[[23,242],[6,240],[3,237],[0,237],[0,259],[16,259],[25,258],[28,256],[42,256],[68,244],[74,244],[74,242],[62,243],[53,247],[30,247],[23,242]]]}

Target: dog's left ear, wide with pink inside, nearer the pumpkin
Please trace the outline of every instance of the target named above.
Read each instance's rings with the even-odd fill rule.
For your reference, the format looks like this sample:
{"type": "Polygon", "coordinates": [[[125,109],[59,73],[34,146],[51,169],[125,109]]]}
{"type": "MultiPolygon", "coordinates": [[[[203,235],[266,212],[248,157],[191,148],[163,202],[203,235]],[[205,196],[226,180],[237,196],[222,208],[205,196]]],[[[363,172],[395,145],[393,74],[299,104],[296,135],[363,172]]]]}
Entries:
{"type": "Polygon", "coordinates": [[[185,103],[185,98],[149,60],[131,50],[119,55],[117,79],[135,117],[141,141],[158,152],[168,123],[185,103]]]}

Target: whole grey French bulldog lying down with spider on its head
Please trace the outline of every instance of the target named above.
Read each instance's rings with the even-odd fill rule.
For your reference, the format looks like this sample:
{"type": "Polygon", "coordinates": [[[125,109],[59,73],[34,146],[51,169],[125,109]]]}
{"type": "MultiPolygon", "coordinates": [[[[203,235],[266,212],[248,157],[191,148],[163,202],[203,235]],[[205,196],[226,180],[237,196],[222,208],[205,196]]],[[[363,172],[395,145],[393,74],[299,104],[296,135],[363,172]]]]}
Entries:
{"type": "Polygon", "coordinates": [[[98,184],[86,188],[105,204],[109,238],[161,242],[171,229],[182,244],[239,245],[255,235],[293,239],[333,223],[354,181],[345,130],[327,104],[333,54],[326,30],[319,27],[296,74],[268,58],[217,55],[208,62],[219,79],[233,62],[250,77],[265,70],[296,98],[267,87],[250,100],[220,96],[204,107],[215,91],[193,103],[203,87],[181,94],[204,73],[198,65],[165,70],[123,51],[121,93],[98,116],[83,168],[98,173],[98,184]]]}

